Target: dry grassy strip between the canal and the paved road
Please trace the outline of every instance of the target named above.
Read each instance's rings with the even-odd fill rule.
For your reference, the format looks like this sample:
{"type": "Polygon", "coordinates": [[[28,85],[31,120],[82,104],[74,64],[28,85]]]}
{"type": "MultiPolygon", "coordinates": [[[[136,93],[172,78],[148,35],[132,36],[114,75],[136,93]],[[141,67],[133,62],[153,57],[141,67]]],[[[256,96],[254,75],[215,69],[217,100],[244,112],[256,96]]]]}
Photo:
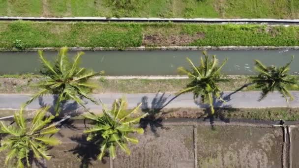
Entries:
{"type": "MultiPolygon", "coordinates": [[[[299,80],[299,76],[295,76],[299,80]]],[[[36,84],[42,76],[39,75],[2,75],[0,76],[0,93],[35,93],[36,84]]],[[[228,77],[229,78],[229,77],[228,77]]],[[[92,79],[99,85],[93,93],[157,93],[167,92],[176,93],[188,84],[188,79],[166,79],[166,80],[147,80],[147,79],[110,79],[105,77],[92,79]]],[[[223,91],[234,91],[244,84],[250,83],[247,76],[236,76],[228,83],[220,84],[223,91]]],[[[289,90],[299,90],[299,88],[288,88],[289,90]]],[[[252,91],[255,88],[251,85],[242,91],[252,91]]]]}

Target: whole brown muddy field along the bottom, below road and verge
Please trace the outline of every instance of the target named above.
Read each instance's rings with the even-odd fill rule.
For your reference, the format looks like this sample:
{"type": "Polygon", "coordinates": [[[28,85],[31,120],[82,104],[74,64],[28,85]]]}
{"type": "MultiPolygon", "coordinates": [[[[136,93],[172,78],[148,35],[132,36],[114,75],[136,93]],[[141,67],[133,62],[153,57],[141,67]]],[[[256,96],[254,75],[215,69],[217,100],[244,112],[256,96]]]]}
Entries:
{"type": "MultiPolygon", "coordinates": [[[[60,146],[50,150],[48,168],[282,168],[283,129],[263,124],[198,120],[149,123],[130,156],[97,161],[98,147],[85,140],[82,122],[69,122],[56,135],[60,146]],[[194,122],[196,121],[196,122],[194,122]],[[240,126],[243,125],[243,126],[240,126]],[[110,165],[112,163],[112,165],[110,165]]],[[[292,131],[293,158],[298,157],[299,129],[292,131]]],[[[3,160],[3,158],[1,158],[3,160]]],[[[296,159],[294,159],[296,161],[296,159]]],[[[293,168],[298,163],[293,162],[293,168]]]]}

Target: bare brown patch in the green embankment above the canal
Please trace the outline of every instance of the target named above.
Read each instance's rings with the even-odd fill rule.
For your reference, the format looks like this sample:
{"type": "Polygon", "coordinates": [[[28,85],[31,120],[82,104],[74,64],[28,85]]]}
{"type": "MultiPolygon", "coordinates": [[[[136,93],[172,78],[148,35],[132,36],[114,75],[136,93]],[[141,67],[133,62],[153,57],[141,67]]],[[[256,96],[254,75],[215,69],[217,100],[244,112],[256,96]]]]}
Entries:
{"type": "Polygon", "coordinates": [[[197,39],[205,38],[204,33],[188,34],[145,34],[142,45],[144,46],[186,46],[197,39]]]}

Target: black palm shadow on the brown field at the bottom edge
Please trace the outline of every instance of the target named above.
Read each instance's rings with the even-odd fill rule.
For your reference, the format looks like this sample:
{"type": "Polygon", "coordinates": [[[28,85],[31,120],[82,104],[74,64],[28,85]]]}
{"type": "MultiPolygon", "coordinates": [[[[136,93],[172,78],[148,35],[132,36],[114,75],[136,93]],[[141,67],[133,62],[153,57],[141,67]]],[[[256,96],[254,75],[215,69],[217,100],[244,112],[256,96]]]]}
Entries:
{"type": "MultiPolygon", "coordinates": [[[[86,135],[82,136],[73,136],[70,138],[78,143],[76,147],[67,152],[72,152],[73,155],[76,155],[81,160],[80,168],[89,168],[93,163],[97,160],[97,156],[99,154],[99,147],[95,145],[93,142],[86,140],[86,135]]],[[[101,140],[98,142],[101,143],[101,140]]],[[[106,164],[107,161],[102,159],[103,164],[106,164]]]]}

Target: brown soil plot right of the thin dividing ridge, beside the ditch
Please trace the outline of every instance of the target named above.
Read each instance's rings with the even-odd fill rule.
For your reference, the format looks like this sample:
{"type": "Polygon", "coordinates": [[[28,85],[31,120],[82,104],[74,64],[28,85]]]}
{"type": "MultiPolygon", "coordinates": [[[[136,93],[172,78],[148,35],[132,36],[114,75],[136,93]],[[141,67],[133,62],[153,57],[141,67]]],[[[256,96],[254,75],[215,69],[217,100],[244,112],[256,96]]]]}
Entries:
{"type": "Polygon", "coordinates": [[[197,127],[198,168],[281,168],[281,128],[197,127]]]}

